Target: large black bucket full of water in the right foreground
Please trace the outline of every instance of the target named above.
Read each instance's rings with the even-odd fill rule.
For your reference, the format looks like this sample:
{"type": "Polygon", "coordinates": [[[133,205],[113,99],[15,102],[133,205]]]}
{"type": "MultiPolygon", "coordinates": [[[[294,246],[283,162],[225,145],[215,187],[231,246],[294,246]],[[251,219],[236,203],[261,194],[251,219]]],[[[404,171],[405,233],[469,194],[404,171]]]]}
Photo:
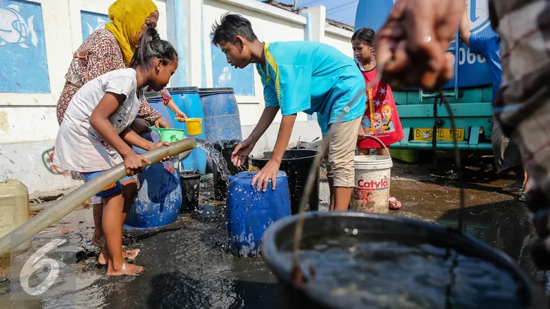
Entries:
{"type": "Polygon", "coordinates": [[[542,289],[534,286],[531,279],[507,255],[443,225],[388,214],[351,211],[306,213],[303,229],[305,242],[300,243],[300,264],[314,266],[315,275],[305,284],[296,284],[292,279],[292,244],[297,220],[298,216],[278,220],[263,235],[263,258],[278,279],[281,308],[547,308],[542,289]],[[316,242],[312,242],[312,239],[327,242],[329,248],[314,247],[316,242]],[[339,248],[349,251],[350,260],[341,260],[340,255],[334,254],[335,251],[330,246],[334,239],[338,239],[339,244],[344,244],[339,248]],[[426,255],[426,265],[430,268],[415,268],[419,265],[414,263],[415,256],[405,255],[404,251],[400,251],[402,255],[384,255],[387,252],[377,249],[382,247],[375,247],[386,243],[399,244],[399,248],[420,250],[426,255]],[[375,246],[364,247],[365,244],[375,246]],[[355,249],[352,251],[351,248],[355,249]],[[318,258],[308,250],[316,250],[318,258]],[[462,258],[443,258],[448,255],[443,255],[442,252],[455,252],[462,258]],[[395,257],[401,257],[401,260],[395,257]],[[393,260],[401,263],[397,264],[399,267],[391,264],[393,260]],[[353,263],[360,265],[360,268],[353,266],[353,263]],[[469,263],[468,268],[461,266],[466,263],[469,263]],[[341,268],[339,265],[344,266],[341,268]],[[455,266],[454,271],[446,268],[450,265],[455,266]],[[376,271],[373,272],[372,269],[376,271]],[[483,290],[483,280],[487,279],[487,275],[472,276],[472,269],[474,273],[482,271],[489,274],[490,279],[498,278],[495,279],[497,284],[491,282],[493,285],[488,289],[490,293],[483,290]],[[454,284],[444,285],[432,281],[433,273],[454,284]],[[494,277],[494,273],[500,276],[494,277]],[[384,282],[386,286],[380,286],[381,279],[386,278],[389,278],[384,282]],[[472,284],[468,282],[471,278],[479,281],[472,284]],[[349,288],[340,288],[340,282],[345,282],[345,288],[355,286],[353,293],[347,293],[349,288]],[[494,294],[494,290],[491,290],[503,286],[513,288],[506,288],[504,292],[502,289],[498,290],[500,294],[494,294]],[[430,294],[434,290],[436,294],[430,294]],[[393,303],[384,306],[373,304],[369,302],[372,299],[365,297],[386,297],[386,293],[398,293],[408,301],[412,299],[415,306],[395,305],[395,301],[401,301],[400,297],[387,297],[385,300],[393,303]],[[464,297],[465,293],[467,295],[464,297]],[[418,302],[425,299],[428,299],[428,304],[418,306],[418,302]],[[443,304],[442,300],[445,300],[443,304]],[[434,302],[437,304],[434,305],[434,302]],[[470,304],[463,306],[464,302],[470,304]]]}

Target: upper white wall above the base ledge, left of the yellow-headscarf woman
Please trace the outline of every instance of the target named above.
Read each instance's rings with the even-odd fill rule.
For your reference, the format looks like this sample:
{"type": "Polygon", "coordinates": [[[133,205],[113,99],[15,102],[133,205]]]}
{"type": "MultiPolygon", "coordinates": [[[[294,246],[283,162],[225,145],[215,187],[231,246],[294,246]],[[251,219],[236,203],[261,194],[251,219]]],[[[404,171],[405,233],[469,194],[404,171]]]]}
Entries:
{"type": "MultiPolygon", "coordinates": [[[[65,85],[65,74],[72,55],[83,41],[80,10],[108,14],[113,0],[30,2],[41,3],[42,6],[51,93],[1,93],[0,144],[56,138],[56,104],[65,85]]],[[[166,38],[166,5],[164,1],[154,2],[160,15],[157,30],[160,36],[166,38]]],[[[32,66],[33,63],[23,65],[32,66]]]]}

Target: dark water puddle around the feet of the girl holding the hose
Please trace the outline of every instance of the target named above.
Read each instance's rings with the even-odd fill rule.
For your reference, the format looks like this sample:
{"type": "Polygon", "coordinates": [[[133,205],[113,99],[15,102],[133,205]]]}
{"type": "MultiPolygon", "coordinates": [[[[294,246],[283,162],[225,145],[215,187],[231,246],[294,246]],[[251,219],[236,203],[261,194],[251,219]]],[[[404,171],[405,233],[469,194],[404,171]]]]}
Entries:
{"type": "MultiPolygon", "coordinates": [[[[224,205],[210,205],[215,212],[224,205]]],[[[212,209],[210,209],[212,210],[212,209]]],[[[91,213],[91,211],[88,211],[91,213]]],[[[219,219],[219,218],[217,218],[219,219]]],[[[92,221],[89,221],[91,224],[92,221]]],[[[93,230],[91,230],[93,232],[93,230]]],[[[37,242],[38,248],[50,240],[37,242]]],[[[91,236],[89,233],[87,236],[91,236]]],[[[234,258],[226,222],[181,217],[173,225],[125,234],[129,248],[140,249],[137,277],[107,277],[97,255],[60,269],[55,284],[43,295],[18,295],[19,282],[0,294],[1,308],[275,308],[275,279],[261,259],[234,258]],[[15,298],[14,298],[15,297],[15,298]],[[29,303],[26,299],[31,299],[29,303]],[[36,302],[38,301],[38,302],[36,302]]],[[[71,239],[78,244],[80,240],[71,239]]],[[[85,241],[85,240],[84,240],[85,241]]],[[[82,242],[80,242],[81,244],[82,242]]],[[[46,277],[48,269],[36,277],[46,277]]],[[[21,288],[19,288],[21,290],[21,288]]]]}

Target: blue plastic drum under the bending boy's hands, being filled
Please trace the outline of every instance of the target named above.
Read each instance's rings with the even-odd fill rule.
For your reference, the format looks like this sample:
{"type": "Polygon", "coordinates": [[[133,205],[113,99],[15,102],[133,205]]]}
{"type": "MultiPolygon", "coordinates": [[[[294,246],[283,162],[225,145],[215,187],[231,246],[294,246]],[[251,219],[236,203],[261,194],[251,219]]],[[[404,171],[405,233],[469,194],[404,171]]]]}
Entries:
{"type": "Polygon", "coordinates": [[[276,220],[290,216],[290,194],[287,175],[278,172],[277,186],[256,191],[252,178],[256,172],[241,172],[230,176],[228,186],[228,233],[234,255],[261,256],[263,232],[276,220]]]}

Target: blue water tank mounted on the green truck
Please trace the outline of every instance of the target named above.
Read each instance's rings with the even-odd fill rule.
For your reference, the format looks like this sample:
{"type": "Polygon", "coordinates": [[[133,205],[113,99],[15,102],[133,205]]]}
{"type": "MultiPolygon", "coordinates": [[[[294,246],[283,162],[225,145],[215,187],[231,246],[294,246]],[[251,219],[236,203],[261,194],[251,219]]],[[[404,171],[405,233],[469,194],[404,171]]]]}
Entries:
{"type": "MultiPolygon", "coordinates": [[[[456,0],[464,1],[464,0],[456,0]]],[[[395,0],[359,0],[357,14],[355,15],[355,30],[362,27],[372,28],[375,32],[380,30],[390,14],[395,0]]],[[[467,0],[467,14],[470,21],[472,34],[481,36],[495,36],[489,21],[488,1],[467,0]]],[[[453,44],[454,41],[451,43],[453,44]]],[[[491,71],[485,63],[487,60],[478,54],[470,52],[470,47],[460,43],[459,49],[459,87],[481,87],[492,84],[491,71]]],[[[451,80],[445,88],[454,87],[451,80]]]]}

